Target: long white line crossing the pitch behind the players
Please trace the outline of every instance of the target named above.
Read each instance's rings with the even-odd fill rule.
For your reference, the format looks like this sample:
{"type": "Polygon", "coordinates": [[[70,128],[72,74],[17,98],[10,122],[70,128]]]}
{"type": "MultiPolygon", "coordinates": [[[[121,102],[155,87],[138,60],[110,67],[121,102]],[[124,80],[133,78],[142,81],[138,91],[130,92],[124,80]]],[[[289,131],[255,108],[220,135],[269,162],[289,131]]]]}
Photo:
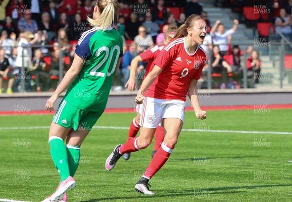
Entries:
{"type": "MultiPolygon", "coordinates": [[[[50,126],[33,126],[33,127],[0,127],[0,130],[26,130],[26,129],[49,129],[50,126]]],[[[92,128],[99,129],[123,129],[128,130],[128,127],[114,126],[93,126],[92,128]]],[[[211,133],[247,133],[247,134],[277,134],[277,135],[292,135],[292,132],[275,132],[275,131],[242,131],[242,130],[197,130],[197,129],[182,129],[188,132],[211,132],[211,133]]]]}

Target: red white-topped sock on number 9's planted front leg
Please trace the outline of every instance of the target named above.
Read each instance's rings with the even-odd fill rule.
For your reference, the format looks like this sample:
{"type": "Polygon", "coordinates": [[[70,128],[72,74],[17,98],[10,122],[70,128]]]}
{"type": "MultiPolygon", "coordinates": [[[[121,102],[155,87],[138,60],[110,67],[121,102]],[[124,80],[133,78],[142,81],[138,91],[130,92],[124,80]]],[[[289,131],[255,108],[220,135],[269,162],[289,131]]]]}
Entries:
{"type": "Polygon", "coordinates": [[[173,149],[174,147],[168,146],[165,142],[162,142],[161,147],[154,155],[143,177],[150,180],[152,176],[155,175],[155,173],[157,173],[168,160],[168,157],[170,156],[173,149]]]}

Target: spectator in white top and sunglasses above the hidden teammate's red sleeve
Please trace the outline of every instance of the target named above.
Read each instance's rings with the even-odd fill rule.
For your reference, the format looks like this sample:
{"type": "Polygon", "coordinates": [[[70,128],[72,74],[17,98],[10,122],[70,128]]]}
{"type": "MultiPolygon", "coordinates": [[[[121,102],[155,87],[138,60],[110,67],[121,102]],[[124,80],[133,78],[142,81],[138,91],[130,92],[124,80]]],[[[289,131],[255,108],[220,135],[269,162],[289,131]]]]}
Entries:
{"type": "Polygon", "coordinates": [[[143,52],[150,46],[153,46],[153,40],[150,35],[146,34],[146,27],[140,26],[138,29],[139,34],[135,37],[135,45],[138,46],[138,51],[143,52]]]}

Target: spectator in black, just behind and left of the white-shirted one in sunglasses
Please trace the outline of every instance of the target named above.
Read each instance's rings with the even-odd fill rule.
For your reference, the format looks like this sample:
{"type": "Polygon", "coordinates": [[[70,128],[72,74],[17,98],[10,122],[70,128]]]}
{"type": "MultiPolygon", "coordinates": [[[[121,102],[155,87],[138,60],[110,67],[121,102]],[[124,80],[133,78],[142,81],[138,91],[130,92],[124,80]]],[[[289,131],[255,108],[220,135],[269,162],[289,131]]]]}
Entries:
{"type": "Polygon", "coordinates": [[[141,22],[137,20],[137,14],[131,12],[130,19],[126,21],[125,37],[127,40],[134,40],[138,35],[138,29],[141,22]]]}

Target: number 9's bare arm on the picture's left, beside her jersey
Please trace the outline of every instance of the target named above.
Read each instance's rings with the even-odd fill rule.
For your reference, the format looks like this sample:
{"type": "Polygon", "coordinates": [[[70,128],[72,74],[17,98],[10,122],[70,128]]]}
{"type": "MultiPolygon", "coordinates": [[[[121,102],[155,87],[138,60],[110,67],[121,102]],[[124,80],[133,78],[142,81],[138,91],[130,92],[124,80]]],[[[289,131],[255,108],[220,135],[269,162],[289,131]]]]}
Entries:
{"type": "Polygon", "coordinates": [[[147,75],[147,77],[144,79],[144,81],[141,84],[141,88],[135,98],[135,101],[137,104],[143,103],[143,93],[146,91],[146,89],[153,83],[153,81],[158,77],[158,75],[162,72],[162,68],[155,65],[151,72],[147,75]]]}

